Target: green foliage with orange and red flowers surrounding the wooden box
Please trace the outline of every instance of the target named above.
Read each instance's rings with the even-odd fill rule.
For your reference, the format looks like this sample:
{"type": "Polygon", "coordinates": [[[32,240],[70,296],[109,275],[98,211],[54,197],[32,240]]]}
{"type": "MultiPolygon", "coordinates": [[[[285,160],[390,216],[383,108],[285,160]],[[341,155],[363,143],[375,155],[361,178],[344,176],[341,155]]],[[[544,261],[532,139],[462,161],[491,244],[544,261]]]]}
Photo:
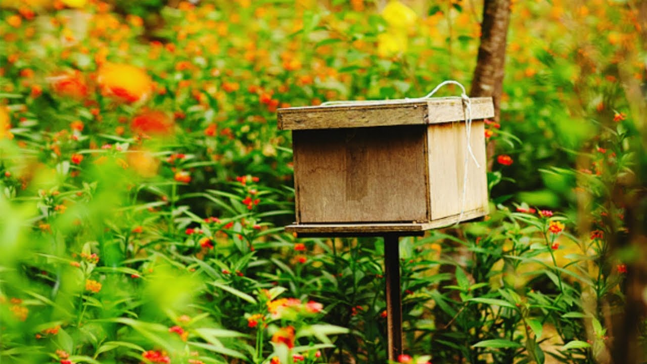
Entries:
{"type": "MultiPolygon", "coordinates": [[[[0,360],[383,362],[382,243],[283,233],[276,109],[470,84],[481,6],[3,0],[0,360]]],[[[645,273],[647,6],[511,7],[492,214],[403,240],[405,347],[610,363],[645,273]]]]}

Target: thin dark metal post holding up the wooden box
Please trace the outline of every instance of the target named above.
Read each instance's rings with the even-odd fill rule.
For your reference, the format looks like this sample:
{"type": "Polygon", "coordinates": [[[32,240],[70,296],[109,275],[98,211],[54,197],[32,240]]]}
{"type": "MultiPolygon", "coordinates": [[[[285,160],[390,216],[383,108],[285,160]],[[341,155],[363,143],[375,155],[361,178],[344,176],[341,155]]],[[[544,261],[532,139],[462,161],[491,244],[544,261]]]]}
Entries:
{"type": "Polygon", "coordinates": [[[400,292],[399,236],[384,235],[384,276],[386,279],[386,330],[388,358],[402,354],[402,297],[400,292]]]}

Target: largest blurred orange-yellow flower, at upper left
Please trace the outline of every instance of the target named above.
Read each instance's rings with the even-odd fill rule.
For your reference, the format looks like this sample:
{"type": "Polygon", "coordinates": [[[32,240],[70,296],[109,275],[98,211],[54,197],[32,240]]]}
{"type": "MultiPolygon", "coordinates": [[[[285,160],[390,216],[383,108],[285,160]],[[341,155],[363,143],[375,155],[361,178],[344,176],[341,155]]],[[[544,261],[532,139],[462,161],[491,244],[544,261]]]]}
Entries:
{"type": "Polygon", "coordinates": [[[146,100],[153,91],[153,81],[144,70],[123,63],[105,63],[96,80],[105,95],[126,102],[146,100]]]}

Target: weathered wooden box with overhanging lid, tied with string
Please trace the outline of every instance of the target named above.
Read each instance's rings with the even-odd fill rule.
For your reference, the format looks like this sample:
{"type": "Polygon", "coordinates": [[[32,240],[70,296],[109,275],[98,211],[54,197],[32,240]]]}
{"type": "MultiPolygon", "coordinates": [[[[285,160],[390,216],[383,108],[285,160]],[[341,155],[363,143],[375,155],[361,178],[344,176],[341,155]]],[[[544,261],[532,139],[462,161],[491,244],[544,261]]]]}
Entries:
{"type": "Polygon", "coordinates": [[[489,97],[470,104],[480,168],[470,157],[465,201],[459,97],[279,109],[278,127],[292,130],[297,225],[426,230],[457,222],[461,209],[461,220],[487,214],[483,119],[494,117],[494,107],[489,97]]]}

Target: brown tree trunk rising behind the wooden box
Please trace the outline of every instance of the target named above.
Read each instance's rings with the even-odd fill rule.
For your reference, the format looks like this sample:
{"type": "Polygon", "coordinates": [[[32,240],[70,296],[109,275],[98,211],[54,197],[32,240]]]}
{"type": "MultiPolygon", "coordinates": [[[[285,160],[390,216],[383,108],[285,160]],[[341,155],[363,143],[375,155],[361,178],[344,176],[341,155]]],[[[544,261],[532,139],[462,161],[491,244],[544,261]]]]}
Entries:
{"type": "MultiPolygon", "coordinates": [[[[483,0],[481,45],[470,91],[472,97],[492,97],[496,122],[499,122],[501,117],[505,46],[510,12],[510,0],[483,0]]],[[[494,142],[488,143],[487,154],[488,156],[494,154],[494,142]]],[[[492,159],[488,159],[488,170],[492,170],[492,159]]]]}

